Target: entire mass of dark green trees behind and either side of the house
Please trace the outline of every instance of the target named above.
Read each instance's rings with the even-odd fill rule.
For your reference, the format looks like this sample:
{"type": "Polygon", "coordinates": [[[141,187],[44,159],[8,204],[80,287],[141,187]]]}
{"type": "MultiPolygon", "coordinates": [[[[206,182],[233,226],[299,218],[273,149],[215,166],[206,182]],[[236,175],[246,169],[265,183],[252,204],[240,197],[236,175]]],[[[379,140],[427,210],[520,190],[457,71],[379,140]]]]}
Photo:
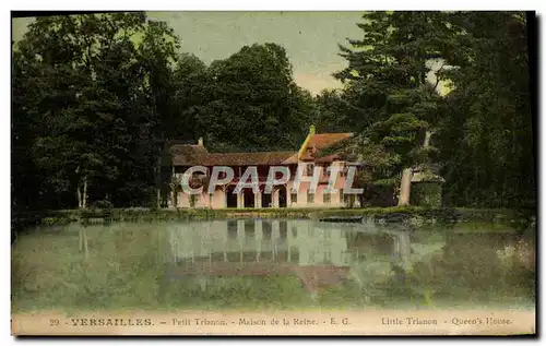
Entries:
{"type": "Polygon", "coordinates": [[[444,177],[446,205],[533,207],[525,15],[370,12],[358,26],[344,87],[313,97],[275,44],[206,65],[144,13],[38,17],[13,46],[13,211],[156,205],[169,140],[296,150],[311,123],[356,132],[364,186],[395,190],[420,167],[444,177]]]}

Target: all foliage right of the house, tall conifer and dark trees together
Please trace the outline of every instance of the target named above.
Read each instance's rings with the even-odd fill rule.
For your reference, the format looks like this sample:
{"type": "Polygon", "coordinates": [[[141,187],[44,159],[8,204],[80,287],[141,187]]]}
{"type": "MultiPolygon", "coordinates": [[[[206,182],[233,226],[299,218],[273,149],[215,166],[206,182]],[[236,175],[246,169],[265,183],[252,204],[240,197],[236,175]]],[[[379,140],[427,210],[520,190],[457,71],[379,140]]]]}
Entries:
{"type": "Polygon", "coordinates": [[[343,91],[317,98],[319,130],[357,130],[347,154],[373,167],[367,184],[396,190],[418,167],[446,179],[447,205],[534,207],[526,19],[364,14],[363,37],[341,47],[343,91]]]}

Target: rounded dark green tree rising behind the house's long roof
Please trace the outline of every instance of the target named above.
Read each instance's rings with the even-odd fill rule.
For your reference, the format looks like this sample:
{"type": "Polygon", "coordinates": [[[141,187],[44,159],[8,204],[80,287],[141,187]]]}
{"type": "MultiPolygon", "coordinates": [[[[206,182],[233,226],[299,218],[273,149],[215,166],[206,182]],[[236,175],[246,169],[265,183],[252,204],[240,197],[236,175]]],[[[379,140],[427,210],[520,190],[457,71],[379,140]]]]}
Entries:
{"type": "Polygon", "coordinates": [[[310,124],[313,103],[292,77],[285,49],[246,46],[207,69],[209,103],[198,127],[213,150],[268,151],[296,147],[310,124]]]}

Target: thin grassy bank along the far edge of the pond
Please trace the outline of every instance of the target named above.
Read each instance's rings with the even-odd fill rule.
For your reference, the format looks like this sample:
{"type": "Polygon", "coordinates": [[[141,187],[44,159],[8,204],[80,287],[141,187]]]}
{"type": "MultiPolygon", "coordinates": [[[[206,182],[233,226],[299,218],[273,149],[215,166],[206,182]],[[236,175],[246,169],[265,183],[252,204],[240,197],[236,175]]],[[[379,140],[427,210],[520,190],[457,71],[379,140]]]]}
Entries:
{"type": "MultiPolygon", "coordinates": [[[[482,222],[495,224],[526,224],[529,213],[511,210],[425,208],[415,206],[367,208],[111,208],[63,210],[15,216],[14,224],[62,225],[83,219],[107,218],[110,222],[171,222],[230,218],[304,218],[372,217],[385,222],[403,222],[417,217],[426,222],[482,222]]],[[[518,225],[515,225],[518,226],[518,225]]]]}

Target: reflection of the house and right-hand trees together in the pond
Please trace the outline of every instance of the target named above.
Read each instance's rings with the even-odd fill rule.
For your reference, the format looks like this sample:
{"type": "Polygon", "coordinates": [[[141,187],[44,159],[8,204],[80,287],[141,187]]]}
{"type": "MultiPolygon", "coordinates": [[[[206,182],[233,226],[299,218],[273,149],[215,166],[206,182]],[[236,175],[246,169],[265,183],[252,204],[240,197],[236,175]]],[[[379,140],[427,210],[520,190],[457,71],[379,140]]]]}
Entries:
{"type": "Polygon", "coordinates": [[[402,291],[391,294],[406,298],[447,295],[450,283],[478,290],[490,283],[510,285],[510,249],[521,238],[514,232],[415,232],[372,220],[216,220],[171,225],[167,234],[171,276],[295,275],[311,293],[351,281],[364,296],[400,285],[402,291]],[[417,293],[408,290],[412,282],[422,286],[417,293]]]}

